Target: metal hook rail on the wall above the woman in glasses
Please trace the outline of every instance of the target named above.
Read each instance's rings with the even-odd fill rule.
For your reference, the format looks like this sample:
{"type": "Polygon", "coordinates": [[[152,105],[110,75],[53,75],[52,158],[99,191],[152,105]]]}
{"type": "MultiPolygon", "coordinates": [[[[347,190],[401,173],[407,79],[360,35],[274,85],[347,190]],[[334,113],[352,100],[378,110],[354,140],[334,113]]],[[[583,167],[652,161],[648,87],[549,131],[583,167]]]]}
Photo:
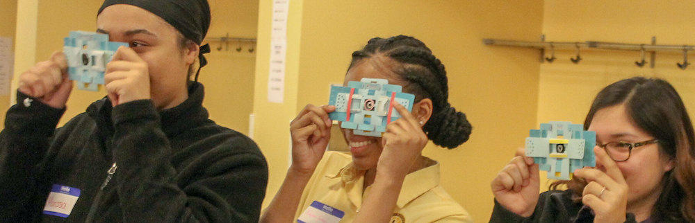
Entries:
{"type": "MultiPolygon", "coordinates": [[[[541,39],[543,39],[541,37],[541,39]]],[[[655,53],[657,51],[680,51],[683,53],[684,61],[682,64],[678,63],[680,69],[684,69],[689,64],[687,62],[687,51],[695,51],[695,46],[693,45],[657,45],[656,38],[652,37],[651,44],[623,44],[614,42],[600,42],[600,41],[587,41],[587,42],[530,42],[530,41],[518,41],[518,40],[507,40],[507,39],[482,39],[483,43],[492,46],[516,46],[516,47],[528,47],[528,48],[538,48],[541,50],[541,62],[543,62],[544,54],[546,49],[550,49],[555,54],[556,49],[576,49],[577,58],[571,58],[572,62],[575,64],[579,62],[579,51],[580,48],[597,48],[605,50],[618,50],[618,51],[640,51],[641,61],[635,64],[639,67],[644,66],[646,63],[644,61],[644,53],[648,52],[651,54],[650,66],[654,68],[655,53]],[[578,59],[578,60],[577,60],[578,59]]],[[[548,60],[548,62],[552,62],[548,60]]]]}

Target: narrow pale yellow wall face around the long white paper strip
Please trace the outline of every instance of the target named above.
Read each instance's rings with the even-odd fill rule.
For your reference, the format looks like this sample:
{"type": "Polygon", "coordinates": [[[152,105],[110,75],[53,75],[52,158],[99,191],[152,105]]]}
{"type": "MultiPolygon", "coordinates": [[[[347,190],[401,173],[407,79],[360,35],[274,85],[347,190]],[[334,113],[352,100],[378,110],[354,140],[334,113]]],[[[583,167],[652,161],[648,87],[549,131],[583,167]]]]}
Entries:
{"type": "Polygon", "coordinates": [[[254,88],[254,141],[258,143],[268,161],[270,181],[268,181],[268,190],[263,201],[264,207],[275,196],[275,192],[282,184],[288,167],[290,121],[297,115],[297,111],[300,111],[297,109],[297,86],[303,4],[302,0],[292,0],[289,6],[285,91],[282,103],[268,102],[272,1],[261,1],[259,5],[259,44],[254,88]]]}

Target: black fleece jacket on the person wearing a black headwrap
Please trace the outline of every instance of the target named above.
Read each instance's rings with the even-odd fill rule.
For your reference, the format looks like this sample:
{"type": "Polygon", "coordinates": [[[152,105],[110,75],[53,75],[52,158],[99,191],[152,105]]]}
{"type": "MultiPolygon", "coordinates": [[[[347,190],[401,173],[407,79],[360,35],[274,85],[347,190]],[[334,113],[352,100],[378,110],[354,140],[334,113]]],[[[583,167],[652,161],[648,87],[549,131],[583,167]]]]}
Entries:
{"type": "Polygon", "coordinates": [[[163,111],[104,98],[56,130],[64,110],[18,92],[0,133],[0,222],[257,222],[263,154],[203,98],[198,83],[163,111]],[[81,190],[67,218],[42,213],[54,184],[81,190]]]}

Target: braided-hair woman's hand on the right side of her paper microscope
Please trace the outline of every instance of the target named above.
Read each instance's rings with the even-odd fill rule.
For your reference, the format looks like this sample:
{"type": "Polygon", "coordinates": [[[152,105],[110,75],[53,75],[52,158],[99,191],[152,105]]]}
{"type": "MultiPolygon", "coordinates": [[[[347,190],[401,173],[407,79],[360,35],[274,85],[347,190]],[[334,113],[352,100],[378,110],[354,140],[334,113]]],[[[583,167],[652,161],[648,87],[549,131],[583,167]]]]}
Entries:
{"type": "Polygon", "coordinates": [[[403,179],[427,145],[427,135],[417,118],[398,103],[393,107],[401,118],[389,123],[382,136],[382,151],[377,175],[403,179]]]}

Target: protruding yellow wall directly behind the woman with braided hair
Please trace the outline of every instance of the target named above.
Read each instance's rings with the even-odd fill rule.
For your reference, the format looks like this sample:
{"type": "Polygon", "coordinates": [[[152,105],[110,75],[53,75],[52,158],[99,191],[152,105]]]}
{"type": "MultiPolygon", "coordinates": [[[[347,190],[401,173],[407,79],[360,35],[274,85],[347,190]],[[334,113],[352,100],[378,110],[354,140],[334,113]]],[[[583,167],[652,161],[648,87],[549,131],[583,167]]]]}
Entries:
{"type": "MultiPolygon", "coordinates": [[[[330,83],[342,83],[352,51],[371,37],[413,35],[422,39],[445,64],[450,102],[464,111],[474,130],[456,150],[433,145],[425,155],[442,163],[442,184],[477,221],[489,219],[493,197],[489,181],[512,158],[528,129],[536,123],[539,64],[536,51],[484,46],[484,37],[534,40],[541,35],[542,1],[291,1],[302,5],[299,78],[286,83],[284,105],[268,104],[267,45],[259,45],[256,64],[256,141],[270,163],[268,202],[284,178],[288,161],[288,121],[307,103],[327,103],[330,83]],[[537,16],[528,16],[537,15],[537,16]],[[261,54],[263,53],[263,54],[261,54]],[[295,94],[296,98],[290,98],[295,94]],[[259,101],[260,100],[260,101],[259,101]],[[263,102],[261,102],[263,101],[263,102]],[[288,103],[296,102],[295,105],[288,103]],[[281,118],[259,123],[259,103],[281,118]],[[259,135],[267,138],[260,138],[259,135]],[[491,167],[491,168],[484,168],[491,167]]],[[[270,35],[270,3],[261,3],[259,40],[270,35]]],[[[298,9],[297,9],[298,10],[298,9]]],[[[291,11],[291,17],[296,15],[291,11]]],[[[293,35],[294,37],[294,35],[293,35]]],[[[294,43],[294,41],[291,41],[294,43]]],[[[294,66],[294,65],[293,65],[294,66]]],[[[294,72],[294,71],[292,71],[294,72]]],[[[294,76],[295,73],[288,72],[294,76]]],[[[265,119],[265,118],[263,118],[265,119]]],[[[334,136],[342,138],[342,136],[334,136]]]]}

